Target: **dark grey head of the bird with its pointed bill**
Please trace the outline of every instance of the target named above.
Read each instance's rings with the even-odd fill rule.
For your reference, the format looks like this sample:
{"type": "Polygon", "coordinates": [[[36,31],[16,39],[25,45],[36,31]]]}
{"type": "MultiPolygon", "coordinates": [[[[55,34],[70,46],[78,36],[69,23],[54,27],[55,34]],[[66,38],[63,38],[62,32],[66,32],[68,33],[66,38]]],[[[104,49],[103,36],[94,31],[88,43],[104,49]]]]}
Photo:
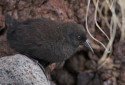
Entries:
{"type": "Polygon", "coordinates": [[[74,47],[84,45],[94,54],[82,25],[73,22],[65,22],[62,26],[64,28],[63,34],[70,44],[74,47]]]}

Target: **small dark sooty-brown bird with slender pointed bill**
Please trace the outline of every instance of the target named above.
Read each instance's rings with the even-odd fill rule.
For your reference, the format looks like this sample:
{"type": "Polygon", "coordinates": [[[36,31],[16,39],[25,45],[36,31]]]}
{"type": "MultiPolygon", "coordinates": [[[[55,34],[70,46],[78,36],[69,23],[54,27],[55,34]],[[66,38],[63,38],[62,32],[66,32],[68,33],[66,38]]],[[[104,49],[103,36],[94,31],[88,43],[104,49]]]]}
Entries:
{"type": "Polygon", "coordinates": [[[10,46],[38,60],[44,67],[65,61],[79,45],[85,45],[93,52],[80,24],[46,18],[17,21],[8,14],[5,15],[5,21],[10,46]]]}

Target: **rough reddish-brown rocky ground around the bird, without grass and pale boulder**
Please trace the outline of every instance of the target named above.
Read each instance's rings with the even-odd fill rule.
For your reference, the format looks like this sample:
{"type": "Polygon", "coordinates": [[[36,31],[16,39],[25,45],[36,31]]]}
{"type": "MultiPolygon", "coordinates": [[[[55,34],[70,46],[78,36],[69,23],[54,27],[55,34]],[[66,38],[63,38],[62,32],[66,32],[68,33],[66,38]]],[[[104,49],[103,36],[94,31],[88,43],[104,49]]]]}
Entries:
{"type": "MultiPolygon", "coordinates": [[[[18,53],[7,43],[3,14],[8,13],[17,20],[45,17],[52,20],[74,21],[82,24],[85,29],[87,3],[88,0],[0,0],[0,57],[18,53]]],[[[91,3],[88,15],[89,30],[95,38],[106,45],[108,40],[95,26],[94,10],[95,7],[91,3]]],[[[97,20],[109,35],[103,21],[97,20]]],[[[50,72],[53,85],[125,85],[125,41],[120,42],[120,34],[120,30],[117,29],[112,56],[101,69],[97,69],[97,62],[104,49],[88,35],[95,54],[92,55],[85,47],[79,47],[78,52],[67,60],[63,67],[58,66],[50,72]]]]}

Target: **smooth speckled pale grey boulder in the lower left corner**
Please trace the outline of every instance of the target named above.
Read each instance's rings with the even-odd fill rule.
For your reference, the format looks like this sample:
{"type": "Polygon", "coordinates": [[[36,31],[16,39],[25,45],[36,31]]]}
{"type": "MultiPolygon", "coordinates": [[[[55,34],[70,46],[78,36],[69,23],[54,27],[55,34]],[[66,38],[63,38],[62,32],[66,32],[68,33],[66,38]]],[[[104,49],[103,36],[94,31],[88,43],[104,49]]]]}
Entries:
{"type": "Polygon", "coordinates": [[[43,70],[24,55],[0,58],[1,85],[50,85],[43,70]]]}

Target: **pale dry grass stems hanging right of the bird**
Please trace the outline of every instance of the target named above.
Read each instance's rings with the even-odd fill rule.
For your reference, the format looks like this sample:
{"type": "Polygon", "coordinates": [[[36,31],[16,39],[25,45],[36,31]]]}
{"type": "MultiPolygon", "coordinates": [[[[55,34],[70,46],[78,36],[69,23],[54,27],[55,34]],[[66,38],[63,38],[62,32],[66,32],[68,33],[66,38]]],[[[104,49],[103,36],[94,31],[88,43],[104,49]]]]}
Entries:
{"type": "Polygon", "coordinates": [[[98,61],[98,69],[103,67],[104,64],[110,59],[110,56],[112,55],[113,42],[116,36],[116,29],[119,28],[121,31],[120,41],[124,40],[125,38],[125,0],[104,0],[104,1],[101,1],[101,3],[99,2],[100,2],[99,0],[93,0],[93,3],[95,5],[95,15],[94,15],[95,19],[94,20],[98,29],[107,37],[108,39],[107,46],[105,46],[99,40],[95,39],[89,32],[88,24],[87,24],[87,17],[88,17],[90,0],[88,0],[88,6],[87,6],[87,12],[86,12],[86,29],[89,35],[92,37],[92,39],[100,43],[105,49],[101,59],[98,61]],[[100,5],[101,7],[99,7],[99,4],[101,4],[100,5]],[[121,9],[121,10],[119,9],[120,13],[118,14],[116,14],[115,12],[116,5],[119,5],[121,9]],[[111,12],[110,19],[108,16],[109,11],[111,12]],[[103,12],[105,13],[104,15],[102,14],[103,12]],[[103,20],[103,22],[105,23],[107,27],[105,29],[110,30],[110,36],[107,36],[106,33],[103,31],[102,27],[100,27],[99,24],[97,23],[97,13],[98,13],[98,17],[101,20],[103,20]]]}

